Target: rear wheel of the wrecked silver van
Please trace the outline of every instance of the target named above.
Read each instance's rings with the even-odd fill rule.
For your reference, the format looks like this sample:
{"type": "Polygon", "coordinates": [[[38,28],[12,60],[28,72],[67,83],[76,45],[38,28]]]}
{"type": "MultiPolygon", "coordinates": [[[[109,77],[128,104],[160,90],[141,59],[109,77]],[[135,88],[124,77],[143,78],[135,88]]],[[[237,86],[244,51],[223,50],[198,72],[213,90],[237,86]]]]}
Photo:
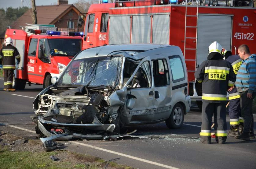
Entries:
{"type": "Polygon", "coordinates": [[[166,119],[165,123],[169,129],[178,129],[181,128],[184,121],[184,108],[180,103],[174,105],[171,115],[166,119]],[[174,116],[176,115],[176,119],[174,116]]]}

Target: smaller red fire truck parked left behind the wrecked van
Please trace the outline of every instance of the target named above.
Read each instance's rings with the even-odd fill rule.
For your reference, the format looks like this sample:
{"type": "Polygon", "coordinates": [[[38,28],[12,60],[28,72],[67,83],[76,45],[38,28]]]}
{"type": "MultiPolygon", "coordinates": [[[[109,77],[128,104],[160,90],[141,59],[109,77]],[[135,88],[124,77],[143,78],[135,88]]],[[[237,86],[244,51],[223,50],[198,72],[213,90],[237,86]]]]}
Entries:
{"type": "Polygon", "coordinates": [[[58,32],[41,30],[6,29],[5,38],[11,37],[20,53],[20,64],[16,65],[13,87],[24,89],[30,85],[51,85],[53,76],[59,77],[71,59],[81,51],[82,32],[58,32]],[[64,36],[66,35],[66,36],[64,36]]]}

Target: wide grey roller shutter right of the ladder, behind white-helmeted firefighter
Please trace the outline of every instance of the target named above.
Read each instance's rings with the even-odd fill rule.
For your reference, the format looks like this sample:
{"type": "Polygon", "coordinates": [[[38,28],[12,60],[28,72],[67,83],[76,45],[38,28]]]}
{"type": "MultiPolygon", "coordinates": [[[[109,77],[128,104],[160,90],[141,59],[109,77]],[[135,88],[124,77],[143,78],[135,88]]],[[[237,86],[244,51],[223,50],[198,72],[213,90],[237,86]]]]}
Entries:
{"type": "Polygon", "coordinates": [[[230,50],[231,29],[232,16],[199,15],[196,64],[200,65],[207,59],[208,47],[214,41],[230,50]]]}

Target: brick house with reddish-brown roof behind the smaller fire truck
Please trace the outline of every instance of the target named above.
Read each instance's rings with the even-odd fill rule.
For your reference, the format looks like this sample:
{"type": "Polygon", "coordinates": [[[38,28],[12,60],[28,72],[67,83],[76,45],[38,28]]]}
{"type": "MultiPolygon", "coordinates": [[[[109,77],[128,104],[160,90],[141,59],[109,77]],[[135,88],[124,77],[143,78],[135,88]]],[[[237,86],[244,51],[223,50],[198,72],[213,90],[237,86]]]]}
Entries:
{"type": "MultiPolygon", "coordinates": [[[[81,13],[73,4],[68,4],[68,0],[58,0],[57,5],[36,6],[37,24],[55,25],[58,30],[67,31],[68,28],[77,31],[77,21],[81,13]]],[[[11,29],[25,27],[26,23],[32,24],[32,9],[25,12],[12,25],[11,29]]],[[[79,28],[83,31],[83,26],[79,28]]]]}

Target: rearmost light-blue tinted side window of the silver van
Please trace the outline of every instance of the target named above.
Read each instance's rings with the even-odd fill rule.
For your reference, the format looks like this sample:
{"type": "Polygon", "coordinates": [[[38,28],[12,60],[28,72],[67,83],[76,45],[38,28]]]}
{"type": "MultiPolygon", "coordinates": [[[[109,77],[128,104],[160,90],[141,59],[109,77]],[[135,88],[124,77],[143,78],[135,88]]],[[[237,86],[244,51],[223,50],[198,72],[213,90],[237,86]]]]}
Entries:
{"type": "Polygon", "coordinates": [[[170,68],[172,71],[172,81],[180,82],[185,80],[185,70],[179,55],[169,56],[170,68]]]}

